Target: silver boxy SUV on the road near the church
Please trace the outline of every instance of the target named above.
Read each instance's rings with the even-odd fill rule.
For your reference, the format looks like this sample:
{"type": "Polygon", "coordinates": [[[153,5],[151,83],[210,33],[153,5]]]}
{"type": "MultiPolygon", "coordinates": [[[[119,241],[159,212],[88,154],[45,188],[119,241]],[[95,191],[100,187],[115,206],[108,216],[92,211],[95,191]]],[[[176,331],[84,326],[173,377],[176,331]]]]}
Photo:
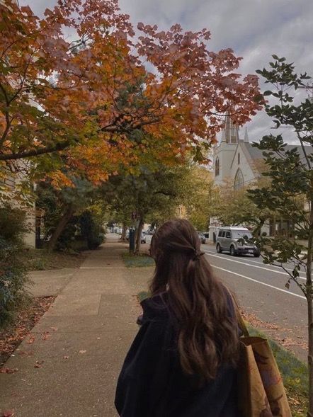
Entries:
{"type": "Polygon", "coordinates": [[[216,238],[216,251],[229,251],[232,256],[251,253],[260,256],[258,248],[249,242],[252,235],[246,227],[220,227],[216,238]]]}

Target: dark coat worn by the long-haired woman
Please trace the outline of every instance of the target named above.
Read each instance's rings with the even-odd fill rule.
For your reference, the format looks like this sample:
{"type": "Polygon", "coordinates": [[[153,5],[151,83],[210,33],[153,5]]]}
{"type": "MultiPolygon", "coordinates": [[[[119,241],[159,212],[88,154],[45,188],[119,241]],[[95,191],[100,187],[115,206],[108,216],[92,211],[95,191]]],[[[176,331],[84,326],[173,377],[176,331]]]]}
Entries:
{"type": "Polygon", "coordinates": [[[238,417],[236,372],[222,366],[200,389],[179,364],[176,326],[164,295],[142,302],[142,326],[118,379],[115,406],[120,417],[238,417]]]}

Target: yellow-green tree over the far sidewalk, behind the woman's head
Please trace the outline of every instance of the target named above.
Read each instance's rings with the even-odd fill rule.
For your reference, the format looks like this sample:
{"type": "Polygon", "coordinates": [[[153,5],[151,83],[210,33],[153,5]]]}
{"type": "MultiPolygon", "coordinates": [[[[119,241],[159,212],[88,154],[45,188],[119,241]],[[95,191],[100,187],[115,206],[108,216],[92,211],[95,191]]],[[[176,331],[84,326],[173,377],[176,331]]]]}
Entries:
{"type": "MultiPolygon", "coordinates": [[[[199,178],[200,168],[190,164],[164,166],[154,170],[140,166],[137,175],[113,176],[102,186],[103,198],[114,219],[135,226],[132,212],[137,214],[136,249],[140,251],[140,236],[144,222],[159,223],[176,216],[179,205],[198,207],[199,195],[206,184],[199,178]],[[195,204],[196,203],[196,204],[195,204]]],[[[207,171],[205,170],[207,173],[207,171]]],[[[204,177],[204,174],[203,174],[204,177]]]]}

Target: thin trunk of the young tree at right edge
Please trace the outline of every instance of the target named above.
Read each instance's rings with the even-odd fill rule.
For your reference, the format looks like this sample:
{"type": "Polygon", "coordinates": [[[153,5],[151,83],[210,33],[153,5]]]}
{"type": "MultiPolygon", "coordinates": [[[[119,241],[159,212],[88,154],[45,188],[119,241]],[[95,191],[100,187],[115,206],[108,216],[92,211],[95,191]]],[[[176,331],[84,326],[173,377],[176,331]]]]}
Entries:
{"type": "MultiPolygon", "coordinates": [[[[311,200],[313,202],[313,199],[311,200]]],[[[309,352],[307,365],[309,367],[309,410],[307,417],[313,417],[313,287],[312,287],[312,255],[313,255],[313,205],[310,207],[309,239],[307,242],[307,326],[309,332],[309,352]]]]}

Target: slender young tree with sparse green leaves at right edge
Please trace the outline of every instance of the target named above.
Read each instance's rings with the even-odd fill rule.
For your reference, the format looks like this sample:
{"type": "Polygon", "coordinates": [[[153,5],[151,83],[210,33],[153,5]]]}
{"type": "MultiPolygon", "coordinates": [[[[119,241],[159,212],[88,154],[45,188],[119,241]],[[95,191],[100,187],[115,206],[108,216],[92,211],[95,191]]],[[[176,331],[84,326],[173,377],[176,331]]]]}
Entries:
{"type": "Polygon", "coordinates": [[[258,208],[275,210],[281,217],[288,218],[294,224],[293,238],[286,236],[260,237],[256,244],[263,250],[264,263],[279,265],[289,275],[290,282],[300,288],[307,299],[308,319],[308,366],[309,366],[309,410],[313,416],[313,101],[307,98],[296,104],[295,94],[298,88],[305,87],[310,79],[307,74],[296,74],[293,64],[285,58],[273,55],[270,69],[258,70],[271,84],[271,90],[264,96],[275,100],[266,103],[266,113],[274,119],[276,127],[292,127],[300,142],[300,150],[291,148],[281,135],[268,135],[254,144],[263,150],[268,171],[263,176],[270,179],[267,186],[249,190],[251,200],[258,208]],[[293,265],[292,271],[284,267],[285,262],[293,265]],[[306,282],[300,281],[300,269],[304,268],[306,282]]]}

